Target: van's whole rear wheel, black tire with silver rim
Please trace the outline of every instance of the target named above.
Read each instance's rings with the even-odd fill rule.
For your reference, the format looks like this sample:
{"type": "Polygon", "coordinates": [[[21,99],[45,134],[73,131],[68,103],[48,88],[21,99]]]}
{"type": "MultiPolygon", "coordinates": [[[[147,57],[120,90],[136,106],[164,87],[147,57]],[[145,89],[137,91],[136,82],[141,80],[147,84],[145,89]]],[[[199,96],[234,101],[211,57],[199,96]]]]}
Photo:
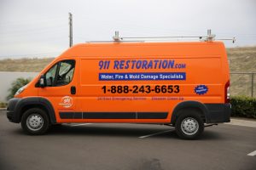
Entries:
{"type": "Polygon", "coordinates": [[[201,114],[195,110],[184,110],[177,117],[176,133],[182,139],[198,139],[204,131],[201,114]]]}

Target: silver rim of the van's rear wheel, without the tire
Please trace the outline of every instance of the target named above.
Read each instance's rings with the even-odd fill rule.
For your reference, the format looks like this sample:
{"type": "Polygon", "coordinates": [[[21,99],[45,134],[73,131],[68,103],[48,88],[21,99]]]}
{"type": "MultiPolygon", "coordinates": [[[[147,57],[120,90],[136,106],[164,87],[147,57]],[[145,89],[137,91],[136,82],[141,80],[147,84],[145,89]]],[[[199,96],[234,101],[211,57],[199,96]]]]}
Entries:
{"type": "Polygon", "coordinates": [[[193,117],[186,117],[181,123],[181,129],[183,133],[193,135],[197,133],[199,129],[199,123],[193,117]]]}

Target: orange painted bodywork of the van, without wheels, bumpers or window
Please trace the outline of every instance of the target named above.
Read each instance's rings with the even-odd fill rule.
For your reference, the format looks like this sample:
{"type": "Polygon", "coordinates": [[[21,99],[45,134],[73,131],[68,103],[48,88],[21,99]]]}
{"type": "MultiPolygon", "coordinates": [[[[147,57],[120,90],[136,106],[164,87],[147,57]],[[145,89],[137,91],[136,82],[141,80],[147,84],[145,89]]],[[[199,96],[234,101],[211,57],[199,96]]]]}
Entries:
{"type": "Polygon", "coordinates": [[[172,111],[183,101],[224,104],[225,84],[229,80],[228,59],[222,42],[84,43],[67,49],[54,59],[15,98],[42,97],[49,100],[58,123],[170,123],[172,111]],[[65,78],[63,84],[71,82],[37,88],[40,76],[63,60],[75,61],[73,75],[62,77],[65,78]],[[102,74],[113,75],[113,79],[101,80],[102,74]],[[75,94],[71,94],[72,87],[76,88],[75,94]],[[108,112],[167,112],[167,116],[87,119],[61,118],[60,112],[101,112],[102,117],[108,112]]]}

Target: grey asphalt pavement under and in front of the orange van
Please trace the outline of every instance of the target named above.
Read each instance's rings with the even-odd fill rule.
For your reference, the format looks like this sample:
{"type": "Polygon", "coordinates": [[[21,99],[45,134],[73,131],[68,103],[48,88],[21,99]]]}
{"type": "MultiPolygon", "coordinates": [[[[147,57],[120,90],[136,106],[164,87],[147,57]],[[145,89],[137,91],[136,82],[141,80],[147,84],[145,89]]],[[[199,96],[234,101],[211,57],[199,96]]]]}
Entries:
{"type": "Polygon", "coordinates": [[[0,113],[1,170],[255,170],[254,150],[256,127],[220,124],[183,140],[163,125],[80,123],[29,136],[0,113]]]}

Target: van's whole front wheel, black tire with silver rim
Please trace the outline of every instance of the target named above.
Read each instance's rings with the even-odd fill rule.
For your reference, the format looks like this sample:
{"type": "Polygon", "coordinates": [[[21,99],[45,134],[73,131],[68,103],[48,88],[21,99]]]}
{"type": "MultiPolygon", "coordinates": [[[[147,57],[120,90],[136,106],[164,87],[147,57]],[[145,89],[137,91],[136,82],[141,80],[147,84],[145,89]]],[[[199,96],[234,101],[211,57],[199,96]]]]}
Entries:
{"type": "Polygon", "coordinates": [[[29,109],[21,117],[21,127],[28,134],[44,134],[49,129],[49,116],[44,110],[29,109]]]}

